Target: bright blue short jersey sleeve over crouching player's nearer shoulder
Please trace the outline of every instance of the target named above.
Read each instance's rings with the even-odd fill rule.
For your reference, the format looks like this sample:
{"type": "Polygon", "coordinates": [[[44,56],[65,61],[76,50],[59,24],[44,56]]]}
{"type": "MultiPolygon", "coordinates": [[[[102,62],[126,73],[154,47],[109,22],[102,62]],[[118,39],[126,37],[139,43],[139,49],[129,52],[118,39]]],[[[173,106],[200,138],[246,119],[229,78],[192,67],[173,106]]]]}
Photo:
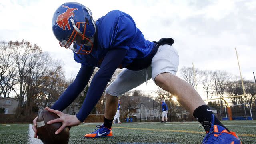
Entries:
{"type": "Polygon", "coordinates": [[[129,50],[136,32],[136,24],[131,16],[118,17],[110,48],[123,48],[129,50]]]}

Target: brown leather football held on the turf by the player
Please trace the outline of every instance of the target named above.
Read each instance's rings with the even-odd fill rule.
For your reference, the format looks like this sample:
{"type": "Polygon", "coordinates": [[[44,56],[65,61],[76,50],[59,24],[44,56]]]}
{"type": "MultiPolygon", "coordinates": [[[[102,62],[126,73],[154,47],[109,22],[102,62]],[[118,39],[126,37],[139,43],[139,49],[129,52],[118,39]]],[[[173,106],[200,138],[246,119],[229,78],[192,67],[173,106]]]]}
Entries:
{"type": "Polygon", "coordinates": [[[38,136],[44,144],[68,144],[69,128],[66,127],[59,134],[55,132],[62,126],[62,122],[47,124],[48,121],[60,118],[57,114],[42,110],[37,118],[38,136]]]}

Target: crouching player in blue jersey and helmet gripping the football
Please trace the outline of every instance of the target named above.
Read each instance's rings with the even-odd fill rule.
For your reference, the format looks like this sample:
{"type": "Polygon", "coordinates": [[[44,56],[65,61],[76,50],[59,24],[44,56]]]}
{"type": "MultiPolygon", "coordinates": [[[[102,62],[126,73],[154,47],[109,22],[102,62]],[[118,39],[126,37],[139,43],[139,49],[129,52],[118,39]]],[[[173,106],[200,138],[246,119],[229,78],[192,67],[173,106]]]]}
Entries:
{"type": "MultiPolygon", "coordinates": [[[[77,126],[83,122],[102,96],[115,70],[124,68],[116,80],[106,88],[104,123],[97,126],[98,129],[94,132],[86,134],[86,138],[112,136],[111,126],[118,108],[118,96],[152,78],[160,88],[174,94],[178,102],[199,122],[214,122],[213,125],[204,127],[209,132],[204,143],[240,142],[234,132],[230,132],[217,118],[212,117],[212,111],[198,92],[186,81],[175,76],[179,56],[172,46],[173,39],[161,39],[158,42],[145,40],[132,17],[119,10],[108,12],[94,21],[91,11],[75,2],[62,4],[56,10],[52,19],[52,30],[60,46],[71,49],[74,60],[81,64],[74,82],[68,86],[52,108],[45,108],[60,116],[48,122],[48,124],[62,122],[56,134],[66,126],[77,126]],[[95,67],[100,69],[92,79],[78,114],[72,116],[62,113],[61,111],[85,88],[95,67]]],[[[35,138],[37,137],[36,120],[37,118],[33,121],[35,138]]]]}

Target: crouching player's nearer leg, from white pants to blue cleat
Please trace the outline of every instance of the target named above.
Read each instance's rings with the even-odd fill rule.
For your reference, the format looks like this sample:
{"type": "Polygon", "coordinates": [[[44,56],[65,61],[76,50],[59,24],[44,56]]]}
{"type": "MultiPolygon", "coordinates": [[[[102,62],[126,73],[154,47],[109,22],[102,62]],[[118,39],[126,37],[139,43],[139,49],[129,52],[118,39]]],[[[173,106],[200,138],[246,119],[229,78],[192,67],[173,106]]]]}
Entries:
{"type": "MultiPolygon", "coordinates": [[[[204,129],[206,131],[213,131],[213,126],[215,125],[216,128],[218,127],[222,132],[226,133],[226,135],[222,134],[222,136],[219,136],[218,138],[222,137],[224,140],[233,138],[232,140],[234,142],[240,141],[235,134],[229,133],[229,130],[214,117],[213,112],[210,110],[209,106],[205,104],[198,92],[196,92],[196,90],[186,81],[175,76],[178,70],[178,59],[178,53],[172,46],[160,46],[157,54],[152,60],[153,81],[163,90],[174,94],[177,97],[178,102],[193,114],[200,123],[204,121],[212,122],[213,124],[205,124],[204,129]]],[[[216,132],[218,132],[218,129],[216,132]]],[[[215,133],[215,129],[213,133],[215,133]]],[[[213,133],[209,135],[209,138],[215,136],[213,133]]],[[[208,139],[204,139],[204,142],[207,143],[207,140],[208,139]]]]}

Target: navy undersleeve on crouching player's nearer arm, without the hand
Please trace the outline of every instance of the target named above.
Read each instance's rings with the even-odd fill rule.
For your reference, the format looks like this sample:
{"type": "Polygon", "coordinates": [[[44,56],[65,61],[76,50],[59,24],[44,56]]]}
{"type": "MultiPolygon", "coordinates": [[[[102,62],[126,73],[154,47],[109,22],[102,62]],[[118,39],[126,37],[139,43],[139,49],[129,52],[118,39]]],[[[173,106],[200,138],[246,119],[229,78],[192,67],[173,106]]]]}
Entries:
{"type": "Polygon", "coordinates": [[[104,60],[100,66],[100,69],[95,74],[90,87],[88,89],[88,93],[80,108],[76,117],[78,120],[83,122],[86,117],[90,114],[94,106],[97,104],[98,100],[102,96],[106,85],[114,74],[116,68],[121,64],[124,56],[126,55],[127,50],[122,48],[116,48],[108,51],[104,60]]]}

